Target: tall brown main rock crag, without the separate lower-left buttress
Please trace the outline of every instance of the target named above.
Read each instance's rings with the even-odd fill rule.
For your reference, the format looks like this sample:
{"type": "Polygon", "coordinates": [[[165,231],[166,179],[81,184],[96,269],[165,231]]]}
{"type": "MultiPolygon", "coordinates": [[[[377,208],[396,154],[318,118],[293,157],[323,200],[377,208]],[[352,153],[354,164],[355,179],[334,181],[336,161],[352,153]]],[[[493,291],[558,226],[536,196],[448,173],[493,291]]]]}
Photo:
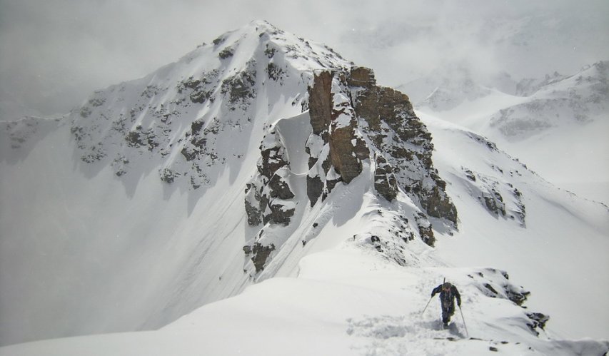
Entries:
{"type": "Polygon", "coordinates": [[[309,168],[317,168],[308,177],[311,205],[320,196],[323,200],[324,192],[333,186],[324,176],[335,173],[334,184],[349,183],[361,173],[362,161],[371,158],[371,152],[379,152],[373,155],[379,194],[391,201],[399,186],[428,215],[456,227],[456,208],[446,195],[446,183],[433,168],[431,135],[416,117],[408,96],[377,86],[371,69],[363,67],[316,73],[308,95],[313,127],[307,143],[309,168]],[[312,148],[326,145],[327,152],[312,148]]]}

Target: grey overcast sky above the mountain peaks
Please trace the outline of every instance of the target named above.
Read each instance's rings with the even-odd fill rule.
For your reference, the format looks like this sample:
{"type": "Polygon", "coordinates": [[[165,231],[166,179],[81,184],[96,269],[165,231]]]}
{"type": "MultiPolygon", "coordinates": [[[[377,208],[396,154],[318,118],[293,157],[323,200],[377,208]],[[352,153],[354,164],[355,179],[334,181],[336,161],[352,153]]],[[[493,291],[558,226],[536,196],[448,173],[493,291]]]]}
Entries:
{"type": "Polygon", "coordinates": [[[522,78],[609,59],[607,0],[0,0],[0,114],[69,111],[254,19],[388,86],[447,63],[522,78]]]}

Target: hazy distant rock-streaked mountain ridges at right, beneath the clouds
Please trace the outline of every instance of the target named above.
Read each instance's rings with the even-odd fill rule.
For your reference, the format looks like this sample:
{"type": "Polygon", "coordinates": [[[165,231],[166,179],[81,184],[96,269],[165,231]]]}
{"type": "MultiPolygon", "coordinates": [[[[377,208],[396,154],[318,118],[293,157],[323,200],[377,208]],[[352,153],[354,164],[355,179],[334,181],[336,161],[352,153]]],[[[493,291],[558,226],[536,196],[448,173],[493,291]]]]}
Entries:
{"type": "Polygon", "coordinates": [[[495,128],[505,138],[518,141],[543,133],[548,128],[564,123],[586,123],[607,113],[607,77],[607,61],[585,66],[570,76],[555,72],[545,78],[524,78],[516,82],[505,74],[490,79],[488,83],[480,83],[470,71],[456,66],[398,88],[418,92],[418,108],[440,114],[482,100],[493,91],[514,96],[512,102],[515,104],[498,106],[498,111],[491,113],[488,120],[491,129],[495,128]]]}

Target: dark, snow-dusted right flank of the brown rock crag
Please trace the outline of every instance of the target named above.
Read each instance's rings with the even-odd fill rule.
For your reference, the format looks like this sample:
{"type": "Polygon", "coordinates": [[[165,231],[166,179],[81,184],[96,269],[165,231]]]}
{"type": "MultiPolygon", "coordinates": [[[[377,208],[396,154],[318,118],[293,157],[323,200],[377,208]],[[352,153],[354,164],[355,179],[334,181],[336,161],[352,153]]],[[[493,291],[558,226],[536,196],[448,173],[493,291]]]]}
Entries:
{"type": "Polygon", "coordinates": [[[393,167],[398,185],[434,218],[456,227],[457,211],[446,194],[446,183],[433,168],[431,134],[419,120],[408,96],[376,86],[368,68],[351,70],[356,114],[367,123],[365,131],[393,167]]]}

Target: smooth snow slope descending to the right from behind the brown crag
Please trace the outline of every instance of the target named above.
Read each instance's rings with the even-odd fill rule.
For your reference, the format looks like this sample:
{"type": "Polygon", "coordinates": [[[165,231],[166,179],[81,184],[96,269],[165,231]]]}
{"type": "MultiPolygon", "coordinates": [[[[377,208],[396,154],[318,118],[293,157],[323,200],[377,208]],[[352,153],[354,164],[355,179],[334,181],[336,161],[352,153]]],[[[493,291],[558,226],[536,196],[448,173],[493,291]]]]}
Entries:
{"type": "Polygon", "coordinates": [[[461,219],[454,238],[438,241],[438,257],[508,270],[530,288],[529,304],[550,315],[558,335],[608,338],[609,282],[600,276],[609,268],[609,209],[555,188],[482,136],[418,115],[433,134],[434,162],[451,182],[447,190],[461,219]],[[501,219],[503,211],[491,216],[474,203],[496,194],[509,219],[518,218],[510,205],[525,213],[525,228],[501,219]]]}

